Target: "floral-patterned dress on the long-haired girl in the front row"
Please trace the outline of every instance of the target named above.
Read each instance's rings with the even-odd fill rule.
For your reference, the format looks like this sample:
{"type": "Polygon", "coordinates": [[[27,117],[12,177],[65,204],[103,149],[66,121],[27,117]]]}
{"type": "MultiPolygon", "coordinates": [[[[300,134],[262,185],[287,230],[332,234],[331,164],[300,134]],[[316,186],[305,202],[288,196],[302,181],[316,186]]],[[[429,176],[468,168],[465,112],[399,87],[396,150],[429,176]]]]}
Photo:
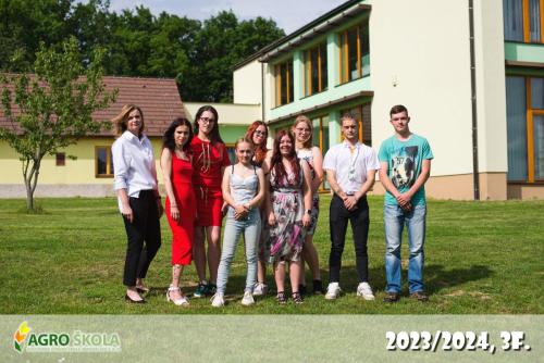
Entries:
{"type": "Polygon", "coordinates": [[[276,224],[270,227],[270,262],[300,261],[304,243],[302,167],[298,183],[295,174],[276,177],[270,172],[271,201],[276,224]]]}

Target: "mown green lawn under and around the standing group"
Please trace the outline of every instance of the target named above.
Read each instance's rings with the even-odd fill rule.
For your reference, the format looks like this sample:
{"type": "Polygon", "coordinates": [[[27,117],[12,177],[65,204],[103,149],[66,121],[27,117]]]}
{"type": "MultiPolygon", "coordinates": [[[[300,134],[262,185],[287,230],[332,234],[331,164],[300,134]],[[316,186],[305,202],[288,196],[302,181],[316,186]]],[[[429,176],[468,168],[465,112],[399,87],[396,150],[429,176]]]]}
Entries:
{"type": "MultiPolygon", "coordinates": [[[[152,287],[146,305],[123,301],[122,270],[126,236],[116,201],[106,199],[40,199],[42,214],[22,214],[24,200],[0,201],[1,314],[542,314],[544,277],[544,202],[429,201],[425,283],[430,302],[406,298],[386,305],[384,297],[383,199],[371,197],[369,261],[376,300],[357,298],[353,241],[343,259],[342,287],[336,301],[308,296],[296,306],[279,306],[269,296],[251,308],[239,304],[245,283],[242,245],[231,271],[227,301],[212,309],[208,299],[190,299],[187,309],[166,303],[170,283],[171,233],[163,218],[163,246],[151,264],[152,287]]],[[[326,284],[329,203],[321,198],[314,243],[326,284]]],[[[349,229],[348,229],[349,235],[349,229]]],[[[406,260],[407,246],[403,246],[406,260]]],[[[307,279],[311,277],[307,272],[307,279]]],[[[197,277],[189,266],[182,278],[187,293],[197,277]]],[[[269,284],[273,286],[269,268],[269,284]]]]}

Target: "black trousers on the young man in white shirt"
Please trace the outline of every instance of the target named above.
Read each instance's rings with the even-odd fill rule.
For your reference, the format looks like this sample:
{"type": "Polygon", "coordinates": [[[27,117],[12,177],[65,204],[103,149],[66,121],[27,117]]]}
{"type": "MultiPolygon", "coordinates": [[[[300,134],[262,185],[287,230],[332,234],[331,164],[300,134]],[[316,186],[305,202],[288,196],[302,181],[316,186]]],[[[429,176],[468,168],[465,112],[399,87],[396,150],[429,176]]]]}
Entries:
{"type": "Polygon", "coordinates": [[[339,283],[342,253],[344,252],[344,245],[346,242],[348,221],[351,222],[351,229],[354,231],[356,267],[359,281],[364,283],[369,279],[367,240],[369,237],[370,218],[367,197],[359,199],[357,209],[348,211],[344,206],[344,201],[334,195],[330,209],[331,255],[329,258],[329,277],[331,283],[339,283]]]}

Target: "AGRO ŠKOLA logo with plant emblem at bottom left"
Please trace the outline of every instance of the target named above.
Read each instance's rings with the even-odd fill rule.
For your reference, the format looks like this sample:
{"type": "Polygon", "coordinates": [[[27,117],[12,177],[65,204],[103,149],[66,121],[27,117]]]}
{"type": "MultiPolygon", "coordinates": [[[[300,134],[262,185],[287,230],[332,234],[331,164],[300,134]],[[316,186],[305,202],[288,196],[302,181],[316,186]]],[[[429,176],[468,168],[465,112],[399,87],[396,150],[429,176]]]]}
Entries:
{"type": "Polygon", "coordinates": [[[21,323],[13,334],[13,349],[17,353],[52,353],[52,352],[121,352],[121,338],[116,333],[37,333],[27,322],[21,323]]]}

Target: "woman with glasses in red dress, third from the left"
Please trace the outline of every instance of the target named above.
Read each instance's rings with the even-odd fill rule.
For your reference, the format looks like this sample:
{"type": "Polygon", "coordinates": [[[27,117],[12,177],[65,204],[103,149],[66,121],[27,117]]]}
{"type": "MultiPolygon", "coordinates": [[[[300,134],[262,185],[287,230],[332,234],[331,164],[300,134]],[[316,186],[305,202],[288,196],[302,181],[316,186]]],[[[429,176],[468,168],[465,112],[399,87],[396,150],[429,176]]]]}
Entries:
{"type": "Polygon", "coordinates": [[[211,105],[201,107],[195,115],[195,134],[190,142],[193,152],[193,184],[197,199],[197,221],[193,245],[193,260],[199,278],[195,298],[215,293],[219,260],[221,256],[221,224],[223,171],[231,165],[226,147],[219,135],[218,111],[211,105]],[[206,248],[208,240],[208,267],[206,279],[206,248]]]}

